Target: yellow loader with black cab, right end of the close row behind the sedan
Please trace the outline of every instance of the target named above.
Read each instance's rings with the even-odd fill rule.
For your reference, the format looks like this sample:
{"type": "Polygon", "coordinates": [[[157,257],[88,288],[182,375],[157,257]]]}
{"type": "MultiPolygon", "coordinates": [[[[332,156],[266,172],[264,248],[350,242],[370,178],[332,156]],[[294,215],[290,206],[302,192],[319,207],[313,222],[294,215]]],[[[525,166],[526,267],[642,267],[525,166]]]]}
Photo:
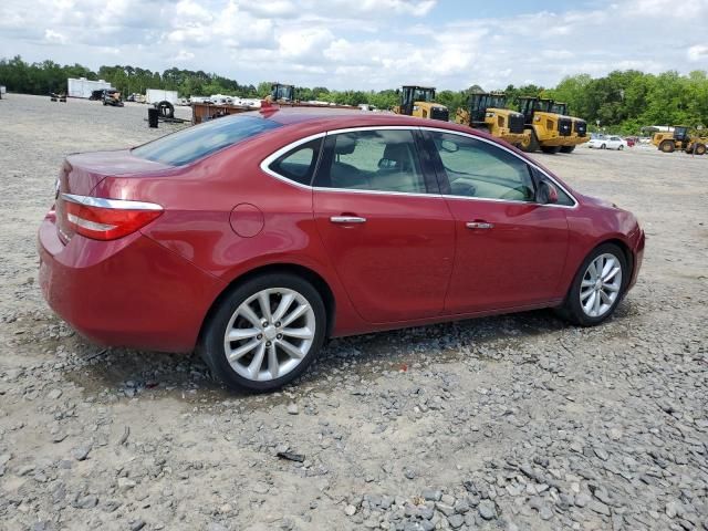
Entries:
{"type": "Polygon", "coordinates": [[[540,148],[543,153],[571,153],[577,144],[590,140],[584,121],[576,118],[579,125],[574,135],[573,118],[554,112],[553,104],[553,100],[535,96],[519,98],[519,110],[529,133],[527,142],[519,146],[522,150],[532,153],[540,148]]]}

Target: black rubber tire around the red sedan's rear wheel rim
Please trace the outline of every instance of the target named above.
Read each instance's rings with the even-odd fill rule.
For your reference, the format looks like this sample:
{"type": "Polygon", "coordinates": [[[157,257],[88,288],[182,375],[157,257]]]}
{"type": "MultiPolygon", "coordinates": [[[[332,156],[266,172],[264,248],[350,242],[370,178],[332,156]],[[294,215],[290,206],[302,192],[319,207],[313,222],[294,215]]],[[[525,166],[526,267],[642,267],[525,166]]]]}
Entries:
{"type": "MultiPolygon", "coordinates": [[[[266,273],[235,285],[217,303],[205,323],[199,341],[198,353],[211,369],[214,376],[221,379],[233,391],[263,393],[274,391],[301,376],[314,361],[325,339],[326,310],[322,296],[306,280],[290,273],[266,273]],[[275,379],[256,381],[243,377],[231,367],[225,352],[225,335],[231,316],[247,299],[253,294],[273,288],[293,290],[304,296],[314,312],[315,333],[312,345],[300,363],[285,375],[275,379]]],[[[266,341],[266,340],[263,340],[266,341]]],[[[283,354],[282,352],[280,353],[283,354]]]]}

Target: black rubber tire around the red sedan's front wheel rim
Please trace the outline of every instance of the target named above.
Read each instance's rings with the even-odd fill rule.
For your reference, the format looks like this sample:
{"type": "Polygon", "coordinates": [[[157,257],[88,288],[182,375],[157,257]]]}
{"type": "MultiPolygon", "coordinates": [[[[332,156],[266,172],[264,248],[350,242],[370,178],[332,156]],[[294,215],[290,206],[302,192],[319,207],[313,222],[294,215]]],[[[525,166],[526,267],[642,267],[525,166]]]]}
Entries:
{"type": "Polygon", "coordinates": [[[565,302],[563,305],[558,309],[559,314],[570,321],[573,324],[579,326],[594,326],[596,324],[606,321],[617,309],[620,301],[622,301],[625,292],[625,288],[627,285],[627,281],[629,280],[629,270],[627,268],[627,259],[616,244],[614,243],[603,243],[595,249],[592,250],[590,254],[583,260],[583,263],[577,269],[575,277],[573,278],[573,282],[571,283],[570,289],[568,290],[568,294],[565,295],[565,302]],[[617,292],[617,298],[614,300],[612,306],[605,311],[600,316],[591,316],[585,313],[581,305],[581,284],[583,282],[583,277],[590,266],[590,263],[595,260],[601,254],[612,254],[615,257],[620,267],[622,269],[622,281],[620,291],[617,292]]]}

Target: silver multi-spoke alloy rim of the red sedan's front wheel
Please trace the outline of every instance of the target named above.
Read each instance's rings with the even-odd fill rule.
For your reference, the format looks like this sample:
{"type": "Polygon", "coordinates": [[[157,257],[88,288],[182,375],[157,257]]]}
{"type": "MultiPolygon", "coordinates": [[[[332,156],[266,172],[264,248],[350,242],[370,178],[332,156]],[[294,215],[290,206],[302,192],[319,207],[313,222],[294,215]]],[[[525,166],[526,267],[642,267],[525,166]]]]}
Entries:
{"type": "Polygon", "coordinates": [[[580,305],[585,315],[605,315],[617,301],[621,288],[622,266],[617,257],[606,252],[593,259],[580,284],[580,305]]]}

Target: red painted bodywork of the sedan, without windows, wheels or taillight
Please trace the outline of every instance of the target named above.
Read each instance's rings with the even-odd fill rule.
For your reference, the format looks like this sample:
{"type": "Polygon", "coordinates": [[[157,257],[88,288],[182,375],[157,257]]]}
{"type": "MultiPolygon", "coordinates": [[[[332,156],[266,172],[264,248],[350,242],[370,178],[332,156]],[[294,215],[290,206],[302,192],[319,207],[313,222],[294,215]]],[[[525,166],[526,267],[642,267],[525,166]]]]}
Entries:
{"type": "Polygon", "coordinates": [[[636,281],[644,231],[632,214],[572,191],[483,133],[372,113],[248,114],[278,127],[181,166],[132,150],[66,158],[56,204],[39,230],[40,283],[51,308],[81,334],[110,345],[192,351],[229,287],[264,271],[287,270],[317,289],[327,336],[561,305],[580,264],[603,242],[626,254],[626,289],[636,281]],[[552,178],[574,205],[351,194],[263,168],[294,142],[358,127],[451,132],[498,144],[552,178]],[[72,197],[162,209],[138,230],[102,241],[72,233],[65,220],[72,197]],[[368,222],[332,223],[337,216],[368,222]],[[494,230],[470,229],[476,220],[494,230]]]}

